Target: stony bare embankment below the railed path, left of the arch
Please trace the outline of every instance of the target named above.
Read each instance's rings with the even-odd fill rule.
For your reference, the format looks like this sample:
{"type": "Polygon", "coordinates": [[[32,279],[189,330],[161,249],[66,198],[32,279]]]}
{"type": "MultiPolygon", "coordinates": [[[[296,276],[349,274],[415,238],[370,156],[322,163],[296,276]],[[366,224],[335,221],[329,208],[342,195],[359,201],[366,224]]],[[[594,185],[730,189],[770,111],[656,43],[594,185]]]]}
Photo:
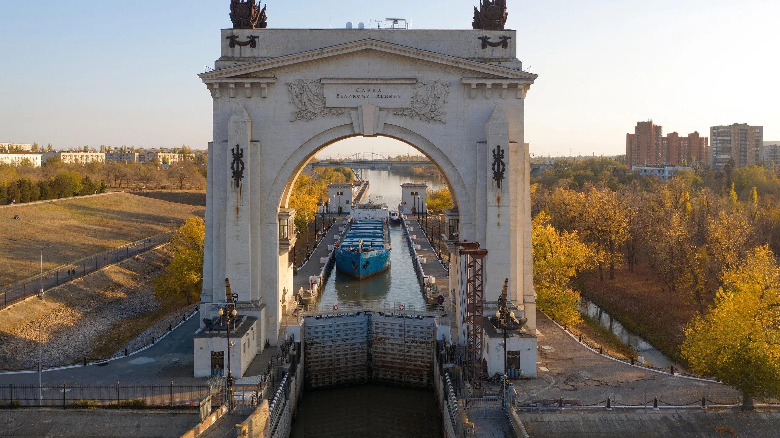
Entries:
{"type": "MultiPolygon", "coordinates": [[[[90,356],[96,345],[118,350],[144,329],[165,319],[143,319],[155,315],[160,305],[151,281],[168,264],[166,246],[126,260],[69,284],[51,289],[43,300],[32,298],[0,314],[0,369],[22,369],[37,363],[38,325],[41,327],[44,366],[79,362],[90,356]],[[130,331],[113,330],[115,324],[142,318],[130,331]],[[129,341],[127,339],[127,341],[129,341]]],[[[176,313],[181,319],[181,313],[176,313]]],[[[165,323],[167,327],[167,323],[165,323]]],[[[159,335],[159,334],[158,334],[159,335]]],[[[104,351],[105,350],[104,348],[104,351]]]]}

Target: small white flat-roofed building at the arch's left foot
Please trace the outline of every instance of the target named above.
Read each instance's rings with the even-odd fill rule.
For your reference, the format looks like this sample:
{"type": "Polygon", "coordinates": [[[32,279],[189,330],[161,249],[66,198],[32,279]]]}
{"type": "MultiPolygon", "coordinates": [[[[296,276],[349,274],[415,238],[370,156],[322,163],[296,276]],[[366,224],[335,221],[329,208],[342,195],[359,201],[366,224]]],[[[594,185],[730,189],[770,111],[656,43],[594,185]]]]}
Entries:
{"type": "Polygon", "coordinates": [[[230,360],[228,360],[228,334],[218,316],[205,321],[202,332],[193,338],[193,376],[227,376],[225,368],[230,363],[234,379],[240,379],[260,353],[264,345],[263,334],[257,327],[257,318],[239,315],[236,324],[230,324],[230,360]]]}

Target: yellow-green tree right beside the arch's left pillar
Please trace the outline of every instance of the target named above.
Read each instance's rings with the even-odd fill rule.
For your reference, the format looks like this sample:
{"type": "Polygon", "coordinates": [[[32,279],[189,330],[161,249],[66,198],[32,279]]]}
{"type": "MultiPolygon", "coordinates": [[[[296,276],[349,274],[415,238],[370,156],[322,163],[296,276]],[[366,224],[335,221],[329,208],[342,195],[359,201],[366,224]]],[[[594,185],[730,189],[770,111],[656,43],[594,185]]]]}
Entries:
{"type": "Polygon", "coordinates": [[[185,300],[188,305],[200,300],[203,288],[203,245],[206,226],[202,217],[193,216],[171,236],[171,263],[154,280],[154,296],[163,302],[185,300]]]}

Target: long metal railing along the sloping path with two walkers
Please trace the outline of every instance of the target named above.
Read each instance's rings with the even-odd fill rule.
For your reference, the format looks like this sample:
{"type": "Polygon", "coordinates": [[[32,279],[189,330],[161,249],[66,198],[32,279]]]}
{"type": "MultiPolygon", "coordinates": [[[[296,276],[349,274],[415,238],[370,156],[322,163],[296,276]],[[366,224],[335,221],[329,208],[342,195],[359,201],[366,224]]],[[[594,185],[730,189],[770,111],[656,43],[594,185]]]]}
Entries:
{"type": "MultiPolygon", "coordinates": [[[[44,291],[55,288],[60,284],[73,281],[78,277],[91,274],[103,267],[119,263],[122,260],[127,260],[157,248],[159,245],[169,242],[171,240],[171,235],[172,231],[168,231],[160,235],[154,235],[137,242],[120,246],[119,248],[97,253],[86,259],[76,260],[75,262],[68,263],[62,267],[44,271],[44,291]]],[[[0,296],[0,300],[2,300],[2,309],[6,309],[13,303],[19,302],[31,295],[38,295],[41,293],[41,274],[11,284],[6,284],[0,293],[2,293],[2,296],[0,296]]]]}

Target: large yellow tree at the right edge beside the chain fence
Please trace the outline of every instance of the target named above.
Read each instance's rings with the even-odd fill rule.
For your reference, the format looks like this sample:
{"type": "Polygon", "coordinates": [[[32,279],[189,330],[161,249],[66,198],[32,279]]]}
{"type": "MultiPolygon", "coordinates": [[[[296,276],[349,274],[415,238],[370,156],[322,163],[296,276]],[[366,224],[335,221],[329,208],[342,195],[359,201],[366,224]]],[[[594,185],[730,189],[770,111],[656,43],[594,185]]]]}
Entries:
{"type": "Polygon", "coordinates": [[[686,326],[681,351],[696,373],[753,397],[780,397],[780,263],[769,245],[722,274],[715,306],[686,326]]]}

